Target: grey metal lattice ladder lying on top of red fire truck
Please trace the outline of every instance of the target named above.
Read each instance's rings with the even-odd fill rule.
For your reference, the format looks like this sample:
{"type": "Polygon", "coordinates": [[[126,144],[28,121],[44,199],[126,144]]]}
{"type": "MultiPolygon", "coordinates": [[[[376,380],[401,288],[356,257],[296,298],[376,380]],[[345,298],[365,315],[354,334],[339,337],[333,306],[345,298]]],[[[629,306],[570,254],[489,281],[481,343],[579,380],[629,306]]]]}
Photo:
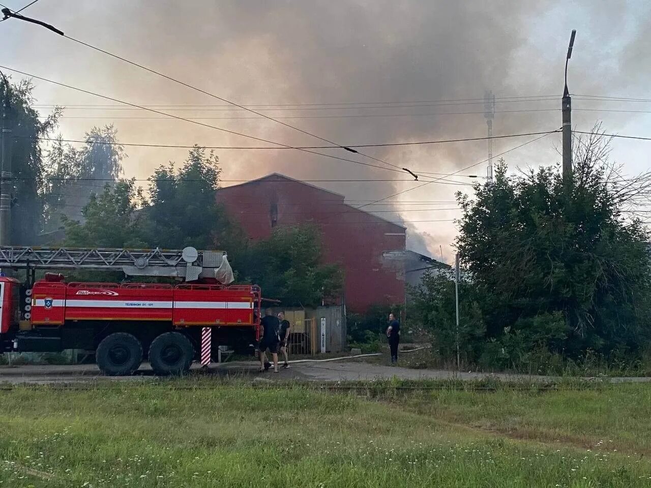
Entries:
{"type": "MultiPolygon", "coordinates": [[[[0,269],[89,269],[123,271],[131,276],[215,277],[221,268],[232,275],[226,252],[177,249],[107,249],[0,246],[0,269]],[[224,269],[227,267],[228,269],[224,269]]],[[[232,279],[226,279],[231,282],[232,279]]]]}

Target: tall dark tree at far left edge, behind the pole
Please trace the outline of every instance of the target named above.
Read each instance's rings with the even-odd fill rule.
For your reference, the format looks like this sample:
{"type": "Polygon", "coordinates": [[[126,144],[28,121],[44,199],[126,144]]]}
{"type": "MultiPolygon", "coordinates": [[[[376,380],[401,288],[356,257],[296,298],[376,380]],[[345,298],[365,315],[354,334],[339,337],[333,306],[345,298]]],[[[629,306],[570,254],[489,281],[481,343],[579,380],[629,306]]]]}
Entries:
{"type": "Polygon", "coordinates": [[[40,233],[43,216],[44,162],[38,137],[48,137],[61,115],[55,109],[45,120],[33,109],[33,84],[29,80],[4,83],[0,79],[0,100],[8,101],[7,122],[12,130],[7,141],[12,161],[16,204],[12,208],[13,244],[33,244],[40,233]]]}

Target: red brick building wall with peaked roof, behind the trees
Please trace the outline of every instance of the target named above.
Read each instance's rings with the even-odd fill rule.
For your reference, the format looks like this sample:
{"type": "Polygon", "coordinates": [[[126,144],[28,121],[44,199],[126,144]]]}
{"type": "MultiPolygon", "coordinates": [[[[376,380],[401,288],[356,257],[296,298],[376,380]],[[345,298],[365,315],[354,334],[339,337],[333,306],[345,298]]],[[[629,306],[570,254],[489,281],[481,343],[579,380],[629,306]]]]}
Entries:
{"type": "Polygon", "coordinates": [[[324,261],[344,269],[344,299],[350,312],[405,300],[406,229],[344,203],[344,196],[273,173],[217,191],[217,202],[251,239],[275,226],[314,223],[322,232],[324,261]]]}

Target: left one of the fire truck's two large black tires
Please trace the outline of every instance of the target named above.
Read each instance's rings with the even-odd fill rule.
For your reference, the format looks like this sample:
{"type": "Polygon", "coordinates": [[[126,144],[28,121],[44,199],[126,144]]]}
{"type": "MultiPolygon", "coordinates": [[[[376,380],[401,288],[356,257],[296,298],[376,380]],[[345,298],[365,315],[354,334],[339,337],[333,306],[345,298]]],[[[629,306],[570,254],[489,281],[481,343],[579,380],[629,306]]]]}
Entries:
{"type": "Polygon", "coordinates": [[[95,357],[105,375],[128,376],[143,362],[143,345],[132,334],[114,332],[100,342],[95,357]]]}

